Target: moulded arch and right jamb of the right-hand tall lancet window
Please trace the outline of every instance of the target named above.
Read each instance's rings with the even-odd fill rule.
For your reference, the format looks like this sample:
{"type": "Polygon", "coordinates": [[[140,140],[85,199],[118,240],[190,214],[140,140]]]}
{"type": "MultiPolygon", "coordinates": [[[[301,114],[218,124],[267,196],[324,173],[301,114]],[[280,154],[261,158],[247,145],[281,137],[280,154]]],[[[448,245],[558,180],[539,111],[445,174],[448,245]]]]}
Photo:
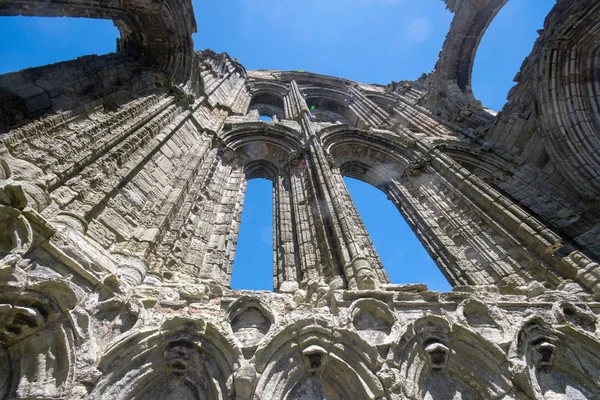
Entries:
{"type": "Polygon", "coordinates": [[[331,127],[320,137],[339,176],[362,180],[388,195],[452,285],[497,285],[511,291],[532,280],[557,284],[558,278],[539,267],[539,259],[531,262],[536,255],[456,183],[449,158],[434,163],[431,149],[385,131],[331,127]]]}

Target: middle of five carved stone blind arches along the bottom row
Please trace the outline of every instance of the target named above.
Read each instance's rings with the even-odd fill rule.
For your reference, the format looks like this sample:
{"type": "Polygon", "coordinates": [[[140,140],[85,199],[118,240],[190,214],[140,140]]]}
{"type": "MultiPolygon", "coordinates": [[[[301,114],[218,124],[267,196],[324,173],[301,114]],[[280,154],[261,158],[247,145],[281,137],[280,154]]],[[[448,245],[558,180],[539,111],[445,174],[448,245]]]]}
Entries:
{"type": "Polygon", "coordinates": [[[258,348],[252,362],[260,373],[254,398],[374,399],[384,396],[378,353],[354,332],[326,320],[296,321],[258,348]],[[304,396],[304,397],[303,397],[304,396]]]}

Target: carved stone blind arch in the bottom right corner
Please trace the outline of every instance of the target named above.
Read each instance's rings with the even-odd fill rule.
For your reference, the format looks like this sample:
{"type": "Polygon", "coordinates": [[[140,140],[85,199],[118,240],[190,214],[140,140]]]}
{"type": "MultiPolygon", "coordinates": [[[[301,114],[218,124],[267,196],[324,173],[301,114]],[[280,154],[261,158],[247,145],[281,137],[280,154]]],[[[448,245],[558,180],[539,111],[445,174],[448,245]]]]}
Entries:
{"type": "MultiPolygon", "coordinates": [[[[570,305],[567,312],[585,314],[576,308],[570,305]]],[[[560,311],[562,315],[564,312],[560,311]]],[[[595,325],[595,318],[583,321],[595,325]]],[[[520,383],[531,397],[584,400],[600,392],[599,349],[598,338],[578,324],[567,322],[553,327],[534,316],[521,327],[510,354],[523,371],[520,383]]]]}

